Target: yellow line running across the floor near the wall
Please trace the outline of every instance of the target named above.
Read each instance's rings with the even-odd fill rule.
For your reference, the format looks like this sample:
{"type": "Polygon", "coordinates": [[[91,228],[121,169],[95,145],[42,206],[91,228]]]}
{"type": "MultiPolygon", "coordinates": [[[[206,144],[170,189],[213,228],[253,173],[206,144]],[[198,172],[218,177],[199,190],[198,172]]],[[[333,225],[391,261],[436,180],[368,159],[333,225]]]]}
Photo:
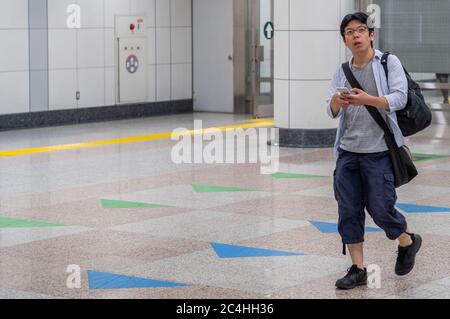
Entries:
{"type": "Polygon", "coordinates": [[[54,145],[54,146],[45,146],[45,147],[25,148],[25,149],[20,149],[20,150],[0,151],[0,157],[13,157],[13,156],[19,156],[19,155],[50,153],[50,152],[57,152],[57,151],[82,149],[82,148],[94,148],[94,147],[101,147],[101,146],[106,146],[106,145],[136,143],[136,142],[144,142],[144,141],[152,141],[152,140],[163,140],[163,139],[171,139],[172,136],[197,135],[197,134],[217,132],[217,130],[223,132],[226,130],[233,130],[233,129],[270,127],[270,126],[273,126],[273,124],[274,124],[273,120],[265,120],[265,121],[257,121],[254,123],[247,123],[247,124],[206,128],[203,130],[196,130],[196,131],[191,130],[191,131],[185,131],[185,132],[176,133],[176,134],[173,134],[172,132],[155,133],[155,134],[143,135],[143,136],[115,138],[115,139],[110,139],[110,140],[97,140],[97,141],[74,143],[74,144],[63,144],[63,145],[54,145]]]}

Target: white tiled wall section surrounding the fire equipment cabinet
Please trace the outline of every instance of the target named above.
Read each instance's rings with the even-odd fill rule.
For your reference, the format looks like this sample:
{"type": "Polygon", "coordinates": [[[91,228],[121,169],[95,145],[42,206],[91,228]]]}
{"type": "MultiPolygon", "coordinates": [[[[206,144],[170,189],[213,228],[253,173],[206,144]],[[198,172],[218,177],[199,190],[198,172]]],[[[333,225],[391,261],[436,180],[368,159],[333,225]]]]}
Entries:
{"type": "Polygon", "coordinates": [[[115,103],[115,15],[146,16],[148,101],[192,98],[191,0],[49,0],[48,6],[50,109],[115,103]],[[70,3],[81,7],[79,30],[65,26],[70,3]],[[66,86],[57,70],[72,71],[66,86]]]}

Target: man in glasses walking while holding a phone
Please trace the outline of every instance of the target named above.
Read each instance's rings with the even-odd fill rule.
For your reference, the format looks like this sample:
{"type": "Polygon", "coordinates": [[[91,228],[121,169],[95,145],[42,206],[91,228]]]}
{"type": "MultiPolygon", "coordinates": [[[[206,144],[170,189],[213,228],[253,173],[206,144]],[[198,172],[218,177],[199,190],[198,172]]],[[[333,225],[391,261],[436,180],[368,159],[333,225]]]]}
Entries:
{"type": "Polygon", "coordinates": [[[340,66],[333,76],[327,96],[327,112],[339,118],[335,143],[337,156],[334,192],[339,207],[339,234],[351,255],[353,265],[336,282],[339,289],[367,284],[363,242],[365,210],[390,240],[398,240],[395,273],[411,272],[422,238],[407,232],[404,216],[395,208],[397,200],[394,173],[383,129],[365,105],[376,108],[391,128],[397,145],[404,139],[396,111],[407,103],[408,83],[400,60],[390,55],[389,78],[381,64],[382,52],[373,49],[375,30],[367,14],[357,12],[344,17],[341,35],[353,58],[350,69],[363,90],[352,89],[340,66]],[[345,93],[347,87],[350,93],[345,93]]]}

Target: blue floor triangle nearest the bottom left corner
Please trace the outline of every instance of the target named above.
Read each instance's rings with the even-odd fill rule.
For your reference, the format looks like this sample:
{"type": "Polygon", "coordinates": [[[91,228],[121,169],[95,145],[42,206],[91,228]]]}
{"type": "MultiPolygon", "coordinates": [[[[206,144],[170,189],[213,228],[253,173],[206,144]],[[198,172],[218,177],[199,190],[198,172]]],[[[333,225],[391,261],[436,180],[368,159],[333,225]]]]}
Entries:
{"type": "Polygon", "coordinates": [[[152,280],[93,270],[89,270],[87,273],[89,289],[136,289],[190,286],[188,284],[176,282],[152,280]]]}

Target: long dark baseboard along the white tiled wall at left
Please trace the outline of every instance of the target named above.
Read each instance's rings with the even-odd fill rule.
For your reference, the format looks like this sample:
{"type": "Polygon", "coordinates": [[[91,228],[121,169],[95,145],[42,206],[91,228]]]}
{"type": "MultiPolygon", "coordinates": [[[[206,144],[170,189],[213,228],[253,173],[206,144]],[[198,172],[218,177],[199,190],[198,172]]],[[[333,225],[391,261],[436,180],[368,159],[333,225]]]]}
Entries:
{"type": "Polygon", "coordinates": [[[0,131],[192,113],[189,100],[0,115],[0,131]]]}

